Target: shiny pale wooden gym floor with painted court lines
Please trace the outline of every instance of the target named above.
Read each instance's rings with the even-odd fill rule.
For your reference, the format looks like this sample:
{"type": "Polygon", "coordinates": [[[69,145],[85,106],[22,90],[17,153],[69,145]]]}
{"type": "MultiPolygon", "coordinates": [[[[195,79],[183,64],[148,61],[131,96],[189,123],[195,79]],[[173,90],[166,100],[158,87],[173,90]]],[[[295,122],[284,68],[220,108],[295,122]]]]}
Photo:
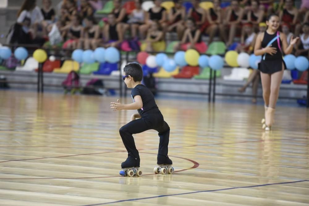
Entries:
{"type": "MultiPolygon", "coordinates": [[[[117,97],[0,91],[0,205],[309,205],[309,110],[157,99],[175,173],[155,175],[159,138],[135,135],[142,177],[122,177],[117,97]]],[[[130,103],[131,99],[122,99],[130,103]]]]}

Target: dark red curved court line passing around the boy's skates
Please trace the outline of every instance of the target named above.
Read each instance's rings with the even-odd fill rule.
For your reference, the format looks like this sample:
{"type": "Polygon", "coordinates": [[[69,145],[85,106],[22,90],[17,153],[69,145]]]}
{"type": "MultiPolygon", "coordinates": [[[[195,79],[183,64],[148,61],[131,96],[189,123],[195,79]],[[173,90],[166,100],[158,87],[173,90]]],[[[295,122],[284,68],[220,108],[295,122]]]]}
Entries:
{"type": "MultiPolygon", "coordinates": [[[[126,151],[115,151],[115,152],[126,152],[126,151]]],[[[80,155],[93,155],[93,154],[102,154],[102,153],[112,153],[112,151],[111,152],[91,153],[91,154],[80,154],[80,155]]],[[[140,153],[149,154],[149,155],[157,155],[157,154],[149,153],[149,152],[140,152],[140,153]]],[[[68,155],[68,156],[59,156],[59,157],[70,157],[70,156],[77,156],[77,155],[68,155]]],[[[169,156],[179,158],[179,159],[184,159],[184,160],[187,160],[187,161],[192,162],[194,164],[193,167],[185,168],[185,169],[182,169],[182,170],[177,170],[177,171],[174,171],[174,173],[182,172],[182,171],[186,171],[186,170],[192,170],[192,169],[195,169],[198,166],[200,166],[200,164],[198,162],[196,162],[192,159],[187,159],[187,158],[183,158],[183,157],[176,157],[176,156],[171,156],[171,155],[169,155],[169,156]]],[[[46,158],[57,158],[57,157],[46,157],[46,158]]],[[[46,158],[36,158],[36,159],[46,159],[46,158]]],[[[30,159],[24,159],[24,160],[30,160],[30,159]]],[[[31,159],[31,160],[33,160],[33,159],[31,159]]],[[[22,161],[22,160],[9,160],[9,161],[5,161],[5,162],[10,162],[10,161],[22,161]]],[[[146,175],[158,175],[158,174],[150,173],[150,174],[146,174],[146,175]]],[[[143,176],[146,176],[146,175],[143,175],[143,176]]],[[[92,178],[108,178],[108,177],[122,177],[122,176],[117,175],[117,176],[99,176],[99,177],[45,177],[45,178],[42,177],[42,178],[0,178],[0,179],[92,179],[92,178]]]]}

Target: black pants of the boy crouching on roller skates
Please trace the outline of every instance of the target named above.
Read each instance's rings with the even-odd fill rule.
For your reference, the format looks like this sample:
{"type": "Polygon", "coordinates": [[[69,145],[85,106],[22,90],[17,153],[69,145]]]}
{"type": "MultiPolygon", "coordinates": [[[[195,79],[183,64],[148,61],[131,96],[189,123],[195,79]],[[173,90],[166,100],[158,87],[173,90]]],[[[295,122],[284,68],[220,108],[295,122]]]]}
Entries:
{"type": "Polygon", "coordinates": [[[139,158],[132,134],[138,134],[146,130],[156,130],[159,132],[160,142],[158,155],[167,156],[170,127],[163,120],[161,112],[148,113],[143,115],[142,118],[133,120],[120,128],[119,133],[128,151],[128,155],[139,158]]]}

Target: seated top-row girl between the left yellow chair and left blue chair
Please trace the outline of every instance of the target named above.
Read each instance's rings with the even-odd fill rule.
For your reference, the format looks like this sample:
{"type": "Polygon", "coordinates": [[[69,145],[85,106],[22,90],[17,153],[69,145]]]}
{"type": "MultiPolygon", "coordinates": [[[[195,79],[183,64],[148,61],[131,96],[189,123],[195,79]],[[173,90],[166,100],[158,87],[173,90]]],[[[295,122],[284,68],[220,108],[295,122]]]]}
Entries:
{"type": "Polygon", "coordinates": [[[182,6],[181,0],[174,0],[175,6],[168,13],[168,29],[167,31],[176,31],[178,39],[182,38],[184,33],[184,19],[186,9],[182,6]]]}

